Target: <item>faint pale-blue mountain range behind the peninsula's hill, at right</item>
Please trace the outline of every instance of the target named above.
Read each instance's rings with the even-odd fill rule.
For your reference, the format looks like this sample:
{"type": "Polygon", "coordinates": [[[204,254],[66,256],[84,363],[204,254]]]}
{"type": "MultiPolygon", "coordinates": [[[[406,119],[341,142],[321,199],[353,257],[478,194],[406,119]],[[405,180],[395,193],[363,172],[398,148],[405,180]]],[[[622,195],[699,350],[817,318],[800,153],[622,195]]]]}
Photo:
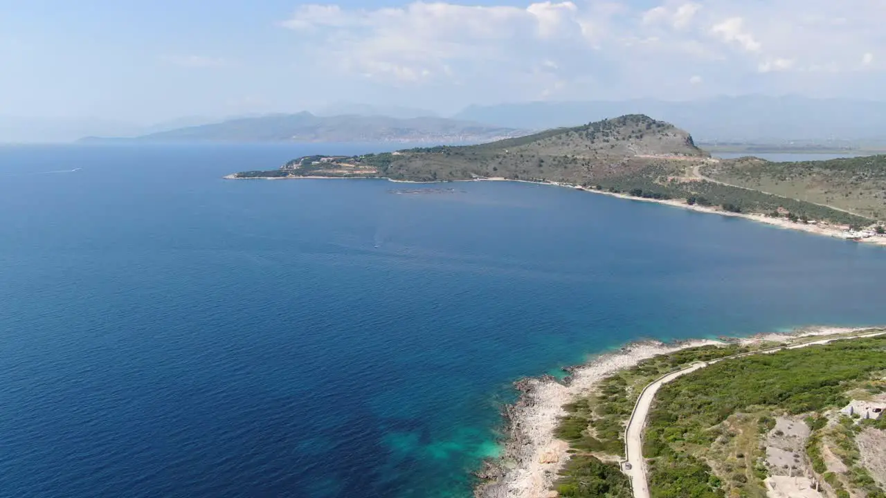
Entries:
{"type": "Polygon", "coordinates": [[[471,105],[453,116],[514,128],[578,126],[623,114],[646,113],[696,140],[768,142],[791,139],[886,139],[886,102],[846,98],[716,97],[688,102],[637,99],[618,102],[530,102],[471,105]]]}

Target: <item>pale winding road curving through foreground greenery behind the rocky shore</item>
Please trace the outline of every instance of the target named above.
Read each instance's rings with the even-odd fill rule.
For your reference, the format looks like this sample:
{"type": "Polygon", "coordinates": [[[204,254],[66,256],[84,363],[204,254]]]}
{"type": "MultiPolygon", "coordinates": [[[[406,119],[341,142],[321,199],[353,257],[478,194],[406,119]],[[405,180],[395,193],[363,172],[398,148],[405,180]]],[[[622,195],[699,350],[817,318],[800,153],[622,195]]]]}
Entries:
{"type": "Polygon", "coordinates": [[[741,358],[742,356],[750,356],[751,354],[772,354],[782,349],[799,349],[801,347],[818,346],[828,344],[836,340],[848,340],[853,338],[872,338],[876,336],[886,335],[886,331],[868,332],[857,334],[854,336],[843,336],[835,338],[823,338],[811,342],[804,342],[794,346],[779,346],[770,349],[762,349],[751,353],[734,354],[726,356],[711,362],[697,362],[688,366],[683,370],[677,370],[663,377],[657,378],[655,381],[643,388],[637,404],[633,407],[631,418],[627,422],[627,431],[625,432],[625,461],[622,468],[631,478],[631,486],[633,487],[633,498],[649,498],[649,478],[646,473],[646,460],[643,458],[643,431],[646,429],[646,422],[649,420],[649,409],[652,407],[652,401],[656,398],[656,393],[662,385],[671,382],[673,379],[682,377],[696,370],[701,370],[708,365],[712,365],[724,360],[732,360],[741,358]]]}

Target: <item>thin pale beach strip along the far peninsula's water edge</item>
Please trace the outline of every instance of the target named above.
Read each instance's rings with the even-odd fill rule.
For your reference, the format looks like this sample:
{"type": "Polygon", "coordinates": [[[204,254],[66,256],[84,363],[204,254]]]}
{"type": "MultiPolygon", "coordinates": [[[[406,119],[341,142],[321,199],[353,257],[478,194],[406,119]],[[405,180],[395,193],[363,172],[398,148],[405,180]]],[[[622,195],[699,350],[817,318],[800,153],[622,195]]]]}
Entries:
{"type": "Polygon", "coordinates": [[[852,242],[858,242],[860,244],[872,244],[872,245],[883,245],[886,246],[886,237],[884,236],[874,236],[861,238],[859,240],[848,239],[845,237],[846,231],[844,227],[835,227],[833,225],[829,225],[826,223],[821,224],[805,224],[805,223],[795,223],[790,222],[789,220],[783,218],[771,218],[766,216],[765,214],[748,214],[748,213],[729,213],[727,211],[722,211],[713,206],[698,206],[698,205],[688,205],[685,202],[680,202],[679,200],[673,199],[656,199],[656,198],[639,198],[629,196],[627,194],[622,193],[614,193],[608,191],[597,191],[594,189],[586,189],[579,188],[578,185],[571,185],[568,183],[554,183],[554,182],[532,182],[529,180],[512,180],[509,178],[503,177],[491,177],[491,178],[475,178],[471,180],[447,180],[447,181],[436,181],[436,182],[413,182],[410,180],[393,180],[392,178],[387,178],[385,176],[254,176],[248,178],[240,178],[232,175],[226,175],[223,177],[226,180],[387,180],[392,183],[456,183],[456,182],[515,182],[515,183],[534,183],[536,185],[549,185],[554,187],[563,187],[573,190],[580,190],[585,192],[590,192],[594,194],[607,195],[610,197],[616,198],[624,198],[627,200],[634,200],[638,202],[650,202],[655,204],[663,204],[665,206],[673,206],[680,207],[682,209],[688,209],[689,211],[695,211],[696,213],[705,213],[705,214],[719,214],[721,216],[730,216],[733,218],[743,218],[745,220],[750,220],[752,222],[765,223],[766,225],[770,225],[773,227],[777,227],[785,230],[797,230],[805,233],[811,233],[813,235],[820,235],[825,237],[833,237],[840,238],[843,240],[851,240],[852,242]]]}

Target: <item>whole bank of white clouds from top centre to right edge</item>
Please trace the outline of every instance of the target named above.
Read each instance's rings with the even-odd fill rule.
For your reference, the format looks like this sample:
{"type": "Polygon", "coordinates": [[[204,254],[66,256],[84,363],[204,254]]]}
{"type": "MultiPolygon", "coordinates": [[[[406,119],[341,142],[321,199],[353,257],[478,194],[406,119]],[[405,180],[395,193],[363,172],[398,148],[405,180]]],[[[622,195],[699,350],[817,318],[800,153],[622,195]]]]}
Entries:
{"type": "Polygon", "coordinates": [[[496,100],[691,97],[669,92],[697,92],[702,82],[705,91],[728,93],[783,93],[791,88],[766,85],[791,82],[837,88],[835,81],[809,81],[808,73],[875,74],[870,48],[886,44],[877,21],[886,19],[882,1],[658,2],[648,9],[616,0],[307,4],[280,24],[298,32],[300,63],[326,74],[410,91],[486,89],[496,100]],[[862,54],[860,64],[846,53],[862,54]],[[761,76],[775,72],[782,77],[761,76]],[[690,85],[687,73],[694,75],[690,85]],[[703,79],[708,74],[718,77],[703,79]]]}

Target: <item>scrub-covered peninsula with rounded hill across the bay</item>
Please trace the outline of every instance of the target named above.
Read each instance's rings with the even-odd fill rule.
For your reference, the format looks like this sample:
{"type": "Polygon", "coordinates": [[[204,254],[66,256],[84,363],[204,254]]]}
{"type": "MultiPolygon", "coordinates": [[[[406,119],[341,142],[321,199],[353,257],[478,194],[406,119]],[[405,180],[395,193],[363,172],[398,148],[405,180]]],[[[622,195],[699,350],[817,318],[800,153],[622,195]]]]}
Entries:
{"type": "Polygon", "coordinates": [[[642,114],[488,144],[307,156],[226,178],[549,183],[886,245],[886,156],[717,160],[688,132],[642,114]]]}

